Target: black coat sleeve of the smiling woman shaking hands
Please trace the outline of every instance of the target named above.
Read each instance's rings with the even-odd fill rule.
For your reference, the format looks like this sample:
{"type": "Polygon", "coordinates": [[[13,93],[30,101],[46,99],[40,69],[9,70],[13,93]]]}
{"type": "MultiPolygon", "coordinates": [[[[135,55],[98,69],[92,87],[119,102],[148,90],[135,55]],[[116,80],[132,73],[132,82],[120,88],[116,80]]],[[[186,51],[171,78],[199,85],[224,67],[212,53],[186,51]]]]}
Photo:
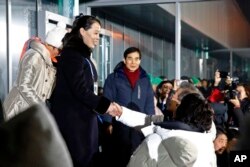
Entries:
{"type": "Polygon", "coordinates": [[[85,58],[79,52],[71,51],[65,53],[61,61],[62,73],[75,100],[84,103],[98,113],[105,113],[110,105],[110,100],[94,94],[94,80],[85,58]]]}

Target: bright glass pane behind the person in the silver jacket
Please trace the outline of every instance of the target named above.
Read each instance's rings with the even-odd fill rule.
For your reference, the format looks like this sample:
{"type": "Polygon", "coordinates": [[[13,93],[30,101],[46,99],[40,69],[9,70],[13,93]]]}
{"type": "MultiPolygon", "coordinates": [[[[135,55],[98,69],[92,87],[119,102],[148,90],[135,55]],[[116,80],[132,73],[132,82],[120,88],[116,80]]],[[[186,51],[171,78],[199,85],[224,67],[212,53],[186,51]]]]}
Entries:
{"type": "Polygon", "coordinates": [[[23,45],[36,35],[36,3],[33,0],[12,0],[10,22],[10,56],[12,84],[16,80],[23,45]]]}

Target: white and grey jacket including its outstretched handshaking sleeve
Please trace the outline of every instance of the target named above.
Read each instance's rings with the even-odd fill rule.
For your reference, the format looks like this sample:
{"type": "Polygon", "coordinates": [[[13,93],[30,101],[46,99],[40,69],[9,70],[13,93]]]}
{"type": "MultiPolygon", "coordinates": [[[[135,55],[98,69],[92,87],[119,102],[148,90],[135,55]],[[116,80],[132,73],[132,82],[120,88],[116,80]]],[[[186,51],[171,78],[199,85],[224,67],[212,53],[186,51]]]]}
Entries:
{"type": "MultiPolygon", "coordinates": [[[[163,117],[148,116],[122,107],[122,115],[116,119],[140,129],[150,121],[161,122],[163,117]]],[[[209,133],[165,129],[154,124],[141,131],[146,139],[133,153],[128,167],[216,167],[214,123],[209,133]]]]}

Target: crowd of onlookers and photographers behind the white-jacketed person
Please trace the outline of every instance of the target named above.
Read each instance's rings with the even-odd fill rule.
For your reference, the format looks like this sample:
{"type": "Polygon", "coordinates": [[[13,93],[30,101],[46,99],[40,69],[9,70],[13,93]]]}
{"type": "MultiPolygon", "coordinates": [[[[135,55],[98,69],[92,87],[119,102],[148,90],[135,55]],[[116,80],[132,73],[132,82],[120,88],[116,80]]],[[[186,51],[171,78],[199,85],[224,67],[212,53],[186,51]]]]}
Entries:
{"type": "MultiPolygon", "coordinates": [[[[216,127],[216,135],[213,139],[216,166],[229,166],[230,152],[239,150],[238,140],[244,136],[242,128],[246,122],[245,117],[250,112],[249,85],[239,82],[229,75],[222,77],[218,70],[215,72],[214,79],[210,81],[187,76],[183,76],[182,80],[192,84],[211,107],[213,123],[216,127]]],[[[167,122],[176,120],[173,106],[180,103],[175,98],[179,89],[177,80],[165,79],[157,85],[155,92],[158,99],[157,106],[161,109],[164,120],[167,122]]],[[[185,109],[187,110],[187,107],[185,109]]],[[[193,109],[193,111],[195,110],[193,109]]]]}

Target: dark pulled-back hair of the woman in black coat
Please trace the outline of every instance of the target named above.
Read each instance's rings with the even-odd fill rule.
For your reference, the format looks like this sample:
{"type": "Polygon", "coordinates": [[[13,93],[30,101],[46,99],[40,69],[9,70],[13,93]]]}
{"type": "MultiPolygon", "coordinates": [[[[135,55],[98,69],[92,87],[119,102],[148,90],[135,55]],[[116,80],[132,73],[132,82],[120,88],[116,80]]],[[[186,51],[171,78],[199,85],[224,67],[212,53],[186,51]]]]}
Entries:
{"type": "Polygon", "coordinates": [[[79,32],[80,28],[88,30],[94,23],[98,23],[101,25],[100,20],[95,16],[83,15],[82,13],[76,16],[71,32],[67,33],[63,38],[63,46],[68,45],[69,41],[71,41],[72,39],[76,41],[82,41],[82,36],[79,32]]]}

